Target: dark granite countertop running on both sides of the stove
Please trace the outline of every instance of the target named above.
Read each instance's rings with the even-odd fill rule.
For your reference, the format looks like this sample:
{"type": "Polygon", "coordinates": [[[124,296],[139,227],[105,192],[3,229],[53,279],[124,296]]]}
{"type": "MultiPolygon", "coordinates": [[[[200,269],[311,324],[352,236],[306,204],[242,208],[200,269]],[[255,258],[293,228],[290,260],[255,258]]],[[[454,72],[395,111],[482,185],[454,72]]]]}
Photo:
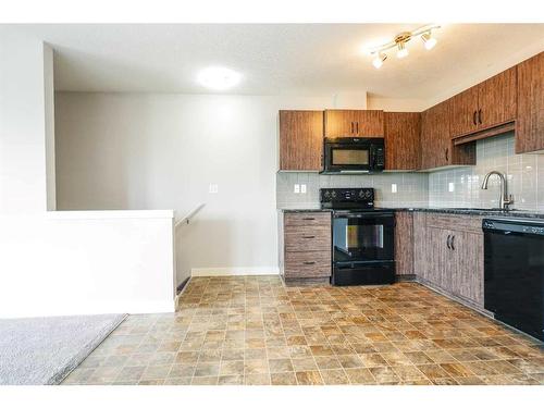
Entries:
{"type": "MultiPolygon", "coordinates": [[[[458,214],[458,215],[480,215],[490,218],[523,218],[523,219],[544,219],[544,212],[542,211],[524,211],[524,210],[511,210],[511,211],[493,211],[484,208],[437,208],[437,207],[398,207],[393,208],[395,211],[410,211],[410,212],[435,212],[443,214],[458,214]]],[[[331,212],[330,209],[321,208],[283,208],[279,209],[283,212],[317,212],[324,211],[331,212]]]]}

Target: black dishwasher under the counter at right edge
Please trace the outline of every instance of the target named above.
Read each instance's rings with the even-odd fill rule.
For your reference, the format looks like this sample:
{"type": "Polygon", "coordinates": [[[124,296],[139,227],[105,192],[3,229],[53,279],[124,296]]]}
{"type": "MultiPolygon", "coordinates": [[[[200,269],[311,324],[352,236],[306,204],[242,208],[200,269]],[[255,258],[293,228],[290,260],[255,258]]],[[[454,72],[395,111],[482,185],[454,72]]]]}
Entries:
{"type": "Polygon", "coordinates": [[[544,341],[544,222],[484,219],[484,306],[544,341]]]}

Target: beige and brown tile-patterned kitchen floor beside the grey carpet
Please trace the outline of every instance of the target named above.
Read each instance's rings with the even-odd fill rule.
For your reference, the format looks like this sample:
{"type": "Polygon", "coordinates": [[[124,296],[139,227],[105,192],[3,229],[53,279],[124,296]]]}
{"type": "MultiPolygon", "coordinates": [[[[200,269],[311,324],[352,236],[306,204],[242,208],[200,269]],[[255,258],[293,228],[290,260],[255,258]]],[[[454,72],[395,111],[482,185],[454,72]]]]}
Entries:
{"type": "Polygon", "coordinates": [[[131,316],[64,384],[544,384],[544,348],[416,283],[195,277],[131,316]]]}

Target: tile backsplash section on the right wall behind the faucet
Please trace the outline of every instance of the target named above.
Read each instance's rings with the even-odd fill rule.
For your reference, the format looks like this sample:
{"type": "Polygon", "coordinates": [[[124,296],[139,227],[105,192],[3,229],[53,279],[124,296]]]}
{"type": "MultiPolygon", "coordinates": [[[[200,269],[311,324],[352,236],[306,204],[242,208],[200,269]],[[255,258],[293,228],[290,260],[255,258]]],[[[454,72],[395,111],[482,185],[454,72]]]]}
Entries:
{"type": "Polygon", "coordinates": [[[430,173],[429,206],[498,207],[498,177],[491,176],[487,189],[481,189],[492,170],[506,174],[512,208],[544,210],[544,156],[516,154],[514,133],[479,140],[474,166],[430,173]]]}

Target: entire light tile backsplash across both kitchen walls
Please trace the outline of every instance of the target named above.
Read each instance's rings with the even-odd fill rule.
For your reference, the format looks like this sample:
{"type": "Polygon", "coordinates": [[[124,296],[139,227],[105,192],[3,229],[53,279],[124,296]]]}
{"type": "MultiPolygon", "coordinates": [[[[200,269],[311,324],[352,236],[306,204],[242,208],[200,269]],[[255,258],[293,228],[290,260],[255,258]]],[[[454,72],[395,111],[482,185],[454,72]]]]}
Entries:
{"type": "Polygon", "coordinates": [[[373,187],[376,207],[498,207],[498,177],[481,189],[485,174],[497,170],[507,175],[514,208],[544,211],[544,154],[516,154],[514,133],[477,143],[477,165],[434,173],[381,173],[373,175],[320,175],[277,173],[277,208],[318,208],[319,189],[373,187]],[[539,185],[539,183],[541,185],[539,185]],[[295,194],[306,184],[306,194],[295,194]],[[392,185],[397,191],[392,191],[392,185]]]}

